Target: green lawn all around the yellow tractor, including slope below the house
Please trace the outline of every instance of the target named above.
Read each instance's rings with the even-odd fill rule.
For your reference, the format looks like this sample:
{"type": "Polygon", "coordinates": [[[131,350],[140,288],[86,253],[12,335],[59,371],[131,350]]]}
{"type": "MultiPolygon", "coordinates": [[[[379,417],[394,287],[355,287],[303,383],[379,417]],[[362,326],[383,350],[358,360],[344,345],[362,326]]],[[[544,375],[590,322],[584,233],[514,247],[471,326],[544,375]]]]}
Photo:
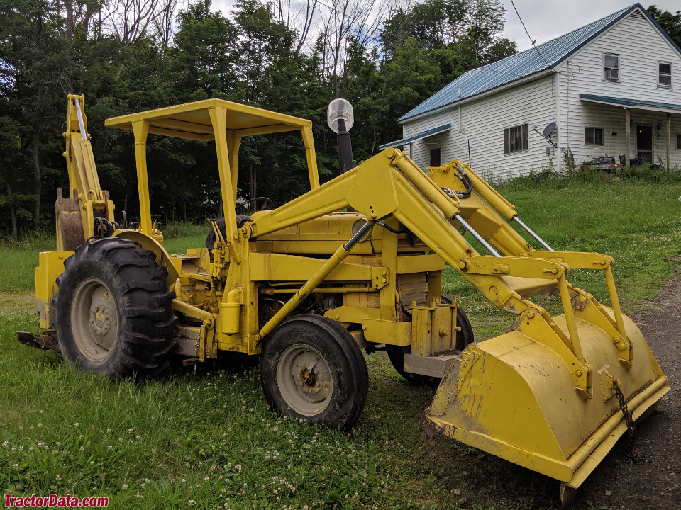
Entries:
{"type": "MultiPolygon", "coordinates": [[[[615,256],[624,310],[643,310],[681,253],[677,183],[511,183],[502,193],[555,249],[615,256]]],[[[166,229],[171,252],[203,246],[208,227],[166,229]]],[[[543,509],[558,485],[461,446],[426,441],[433,390],[404,382],[383,354],[367,357],[370,392],[343,434],[279,419],[253,361],[176,368],[161,380],[114,383],[74,373],[54,352],[18,344],[38,246],[0,251],[0,489],[21,495],[106,495],[114,509],[543,509]]],[[[570,280],[603,299],[599,273],[570,280]]],[[[454,271],[445,293],[478,339],[509,328],[454,271]]],[[[607,460],[606,460],[607,462],[607,460]]]]}

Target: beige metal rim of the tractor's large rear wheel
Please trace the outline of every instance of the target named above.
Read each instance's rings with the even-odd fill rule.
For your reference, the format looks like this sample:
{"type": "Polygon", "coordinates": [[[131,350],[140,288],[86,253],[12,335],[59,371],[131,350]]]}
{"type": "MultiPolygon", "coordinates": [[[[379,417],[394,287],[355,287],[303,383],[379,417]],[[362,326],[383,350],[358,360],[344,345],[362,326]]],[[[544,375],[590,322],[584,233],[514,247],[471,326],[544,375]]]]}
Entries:
{"type": "Polygon", "coordinates": [[[118,338],[118,307],[109,288],[97,278],[84,280],[71,305],[71,327],[77,347],[92,361],[103,361],[118,338]]]}

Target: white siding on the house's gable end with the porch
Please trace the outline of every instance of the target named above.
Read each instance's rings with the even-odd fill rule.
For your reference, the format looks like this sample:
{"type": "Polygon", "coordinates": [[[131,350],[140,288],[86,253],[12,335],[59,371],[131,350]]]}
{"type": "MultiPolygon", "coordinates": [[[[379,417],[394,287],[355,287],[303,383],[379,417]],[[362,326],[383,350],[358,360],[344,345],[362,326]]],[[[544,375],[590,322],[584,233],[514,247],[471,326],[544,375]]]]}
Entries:
{"type": "MultiPolygon", "coordinates": [[[[681,104],[681,56],[638,11],[589,42],[557,70],[560,71],[558,89],[561,98],[558,125],[562,128],[559,145],[570,147],[576,162],[605,154],[618,157],[625,153],[624,108],[582,101],[580,94],[681,104]],[[620,56],[619,83],[603,79],[604,52],[620,56]],[[659,61],[672,63],[672,89],[658,87],[659,61]],[[585,145],[585,127],[603,128],[604,145],[585,145]]],[[[636,157],[638,124],[653,125],[654,162],[660,162],[659,156],[667,166],[667,114],[631,110],[629,157],[632,158],[636,157]]],[[[681,132],[681,113],[672,113],[672,166],[681,165],[681,150],[676,149],[678,132],[681,132]]]]}

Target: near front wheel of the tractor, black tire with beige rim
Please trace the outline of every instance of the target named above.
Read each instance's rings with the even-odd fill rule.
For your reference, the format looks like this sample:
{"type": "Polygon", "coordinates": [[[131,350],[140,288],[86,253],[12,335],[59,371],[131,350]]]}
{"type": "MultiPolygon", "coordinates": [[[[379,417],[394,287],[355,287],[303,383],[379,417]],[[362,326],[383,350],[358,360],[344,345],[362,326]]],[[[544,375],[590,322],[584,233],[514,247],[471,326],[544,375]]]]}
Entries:
{"type": "Polygon", "coordinates": [[[349,429],[360,416],[367,400],[367,365],[338,322],[297,315],[266,339],[260,360],[262,391],[278,414],[333,429],[349,429]]]}

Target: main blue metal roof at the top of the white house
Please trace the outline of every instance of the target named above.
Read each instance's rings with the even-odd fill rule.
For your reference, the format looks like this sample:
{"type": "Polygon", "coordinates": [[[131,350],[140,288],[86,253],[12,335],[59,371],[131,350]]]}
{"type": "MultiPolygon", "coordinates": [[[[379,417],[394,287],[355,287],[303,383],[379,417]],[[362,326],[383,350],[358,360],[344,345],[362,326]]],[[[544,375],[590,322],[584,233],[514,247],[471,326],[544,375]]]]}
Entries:
{"type": "Polygon", "coordinates": [[[636,8],[641,9],[641,12],[654,24],[660,33],[672,44],[673,47],[680,53],[681,49],[672,41],[669,35],[655,22],[655,20],[648,14],[641,4],[634,4],[633,6],[621,9],[612,13],[610,16],[589,23],[587,26],[577,28],[570,33],[561,35],[558,38],[543,42],[536,48],[531,47],[524,52],[516,53],[498,62],[492,62],[477,69],[465,72],[460,77],[452,81],[440,91],[433,94],[433,96],[423,101],[423,103],[416,106],[416,108],[402,115],[397,122],[402,122],[421,113],[426,113],[441,106],[450,105],[461,101],[462,99],[470,98],[475,94],[480,94],[495,87],[508,84],[511,81],[516,81],[521,78],[530,76],[557,66],[560,62],[570,57],[572,53],[579,50],[588,42],[596,38],[598,35],[610,28],[614,23],[628,16],[636,8]],[[541,53],[541,55],[540,55],[541,53]],[[543,57],[543,58],[542,58],[543,57]],[[459,87],[461,93],[459,94],[459,87]]]}

